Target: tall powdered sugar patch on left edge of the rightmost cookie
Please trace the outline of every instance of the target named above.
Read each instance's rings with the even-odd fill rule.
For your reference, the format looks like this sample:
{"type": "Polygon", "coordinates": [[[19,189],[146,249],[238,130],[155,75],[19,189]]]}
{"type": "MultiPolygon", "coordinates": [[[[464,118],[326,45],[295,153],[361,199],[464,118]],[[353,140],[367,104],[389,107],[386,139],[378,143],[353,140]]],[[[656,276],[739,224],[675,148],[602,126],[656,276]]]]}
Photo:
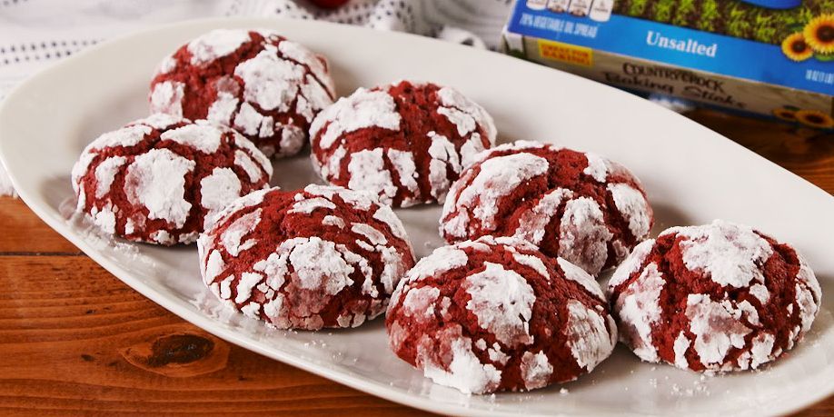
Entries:
{"type": "Polygon", "coordinates": [[[649,263],[614,302],[620,313],[621,340],[647,362],[658,362],[657,349],[651,342],[651,325],[660,320],[660,292],[665,284],[658,265],[649,263]]]}

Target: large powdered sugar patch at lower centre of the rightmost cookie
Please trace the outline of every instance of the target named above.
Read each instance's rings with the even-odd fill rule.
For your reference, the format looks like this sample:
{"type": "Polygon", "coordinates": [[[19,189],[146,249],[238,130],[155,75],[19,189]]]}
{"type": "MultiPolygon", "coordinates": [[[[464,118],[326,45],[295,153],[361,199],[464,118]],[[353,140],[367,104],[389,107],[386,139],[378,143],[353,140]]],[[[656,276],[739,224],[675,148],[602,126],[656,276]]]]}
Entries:
{"type": "Polygon", "coordinates": [[[724,303],[716,303],[708,294],[690,294],[686,301],[686,316],[690,332],[695,334],[695,352],[708,369],[720,369],[730,347],[743,348],[744,336],[750,329],[734,317],[724,303]]]}

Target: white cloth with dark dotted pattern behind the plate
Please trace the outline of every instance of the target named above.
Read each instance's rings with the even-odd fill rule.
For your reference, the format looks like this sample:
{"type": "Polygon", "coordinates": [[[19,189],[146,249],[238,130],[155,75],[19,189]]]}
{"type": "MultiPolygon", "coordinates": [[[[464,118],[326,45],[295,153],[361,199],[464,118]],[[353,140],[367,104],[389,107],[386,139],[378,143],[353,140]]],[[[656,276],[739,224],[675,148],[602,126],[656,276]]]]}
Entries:
{"type": "MultiPolygon", "coordinates": [[[[512,0],[0,0],[0,100],[35,71],[86,46],[145,27],[211,16],[321,19],[495,49],[512,0]]],[[[92,138],[91,138],[92,139],[92,138]]],[[[0,194],[13,190],[0,166],[0,194]]]]}

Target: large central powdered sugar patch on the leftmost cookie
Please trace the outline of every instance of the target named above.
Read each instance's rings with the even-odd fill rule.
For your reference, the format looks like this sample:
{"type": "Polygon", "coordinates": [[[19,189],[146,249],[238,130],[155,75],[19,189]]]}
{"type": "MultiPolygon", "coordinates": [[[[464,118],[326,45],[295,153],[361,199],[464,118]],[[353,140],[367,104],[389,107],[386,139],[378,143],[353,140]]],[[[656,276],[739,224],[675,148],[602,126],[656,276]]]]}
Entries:
{"type": "Polygon", "coordinates": [[[128,201],[147,207],[149,219],[183,227],[192,207],[184,198],[185,174],[194,171],[194,165],[194,161],[167,149],[152,149],[136,156],[124,179],[128,201]]]}

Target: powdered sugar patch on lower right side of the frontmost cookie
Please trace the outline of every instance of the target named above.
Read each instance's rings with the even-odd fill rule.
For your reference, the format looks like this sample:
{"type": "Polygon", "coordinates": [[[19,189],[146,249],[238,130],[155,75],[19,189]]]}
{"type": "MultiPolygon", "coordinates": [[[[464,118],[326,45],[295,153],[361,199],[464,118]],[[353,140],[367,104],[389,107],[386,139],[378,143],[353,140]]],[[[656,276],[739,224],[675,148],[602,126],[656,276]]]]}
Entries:
{"type": "Polygon", "coordinates": [[[576,363],[588,372],[614,350],[611,333],[602,316],[576,300],[568,301],[565,336],[576,363]]]}

